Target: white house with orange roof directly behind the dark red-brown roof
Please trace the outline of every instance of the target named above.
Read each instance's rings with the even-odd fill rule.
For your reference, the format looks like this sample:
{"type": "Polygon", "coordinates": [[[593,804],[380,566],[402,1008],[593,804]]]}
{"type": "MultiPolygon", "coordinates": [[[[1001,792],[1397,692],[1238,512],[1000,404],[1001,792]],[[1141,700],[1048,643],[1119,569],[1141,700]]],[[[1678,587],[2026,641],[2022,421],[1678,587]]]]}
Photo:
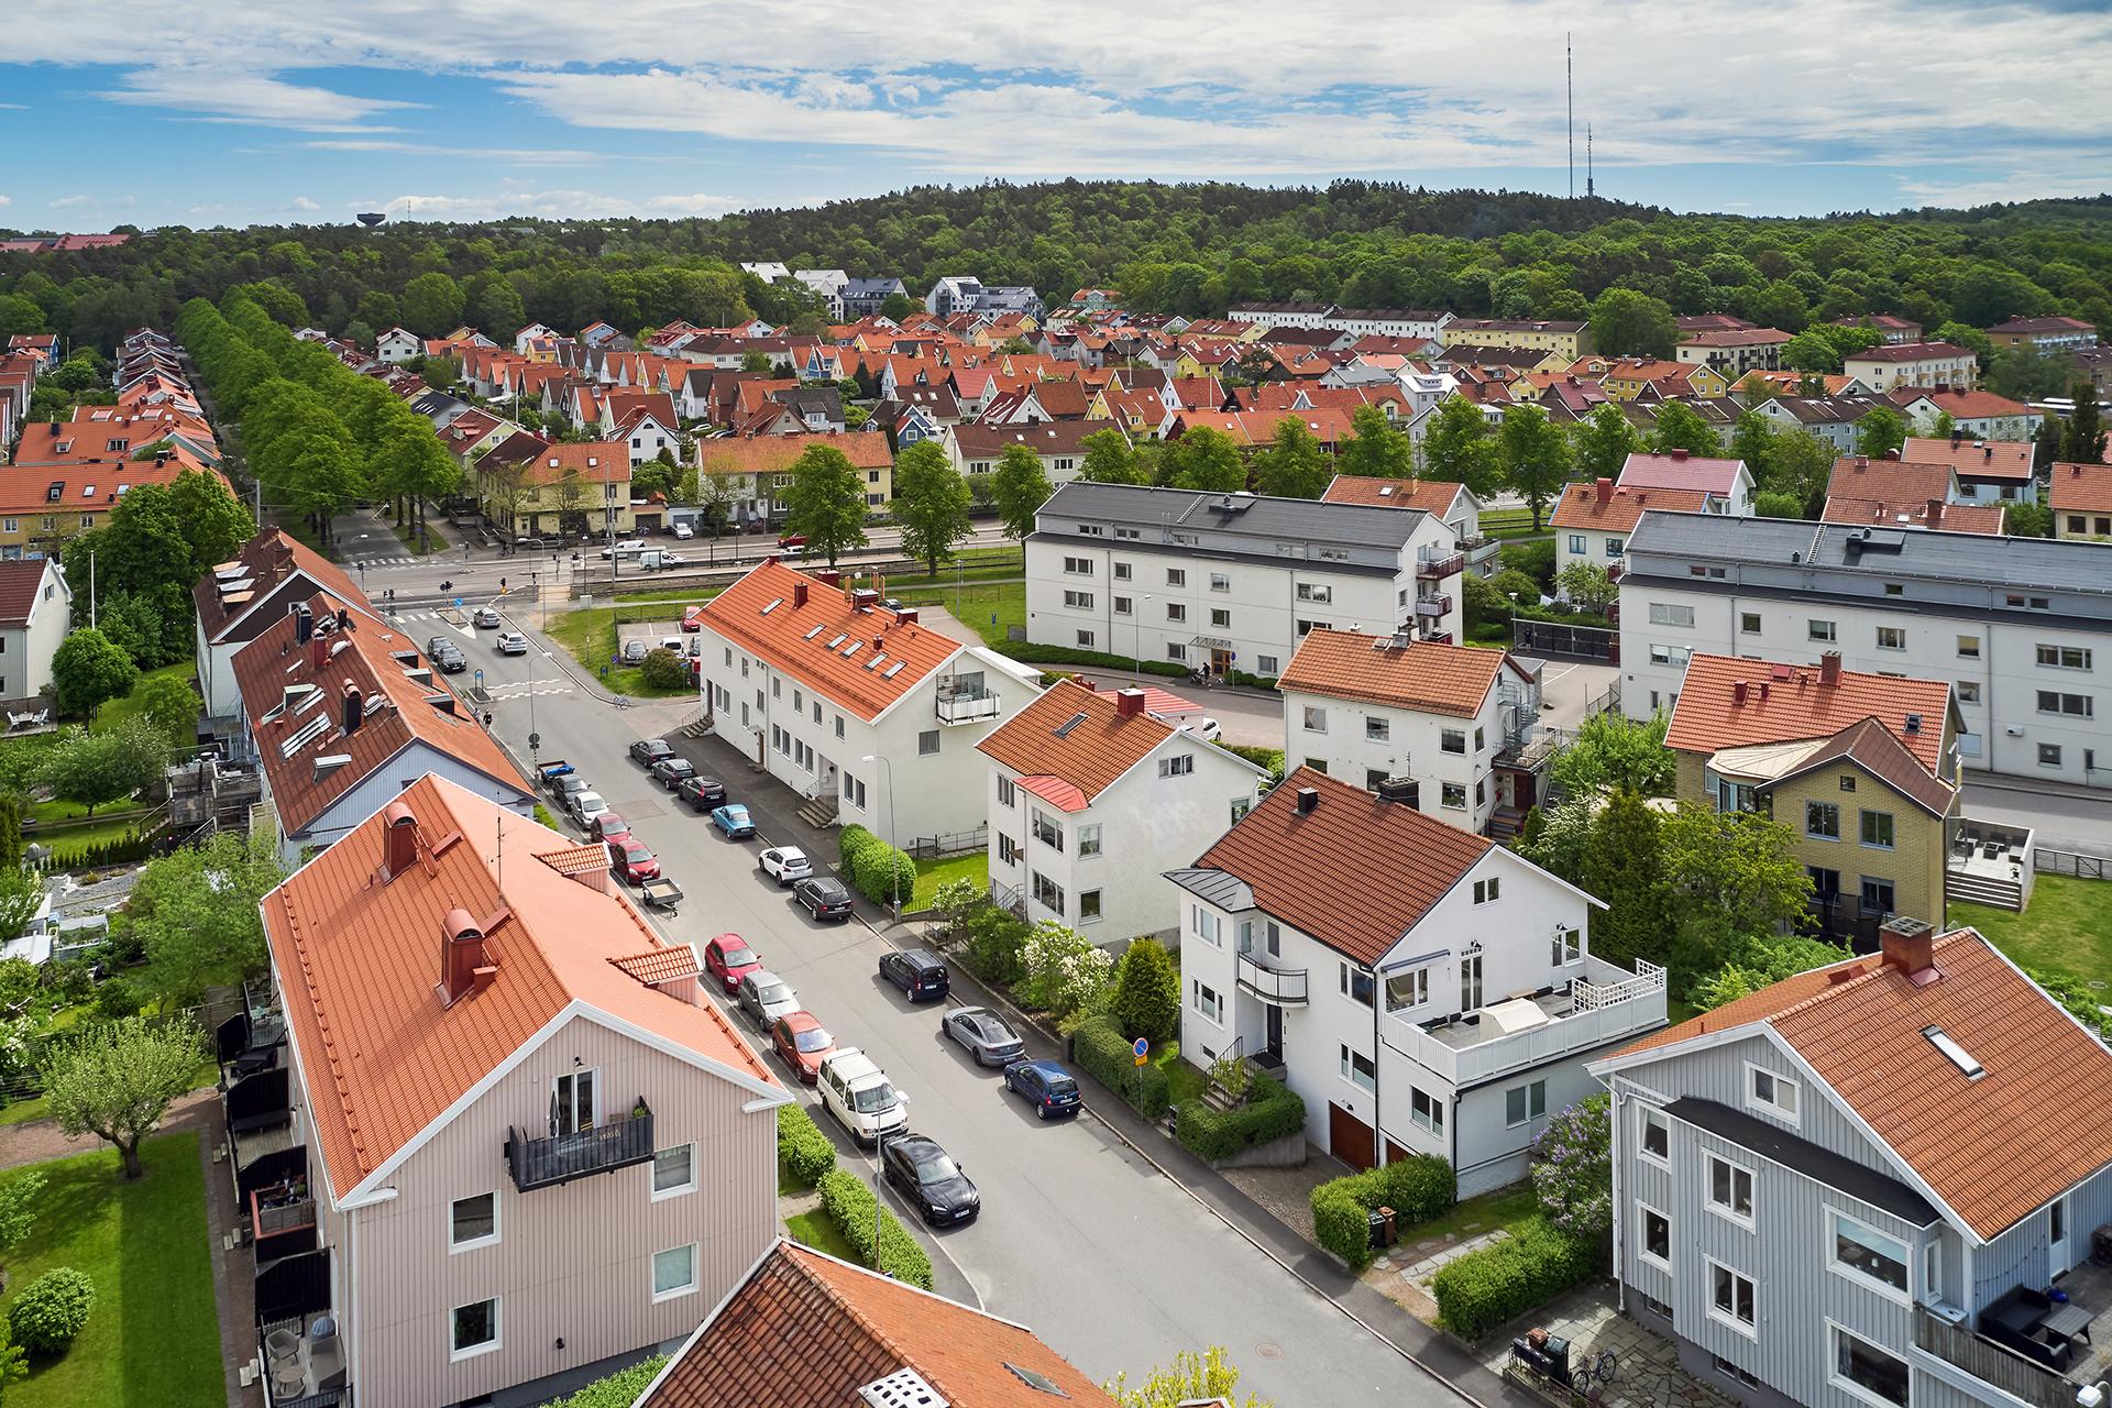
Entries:
{"type": "Polygon", "coordinates": [[[1538,728],[1540,676],[1508,650],[1312,631],[1276,686],[1290,766],[1366,792],[1407,781],[1411,806],[1468,832],[1538,800],[1516,764],[1538,728]]]}

